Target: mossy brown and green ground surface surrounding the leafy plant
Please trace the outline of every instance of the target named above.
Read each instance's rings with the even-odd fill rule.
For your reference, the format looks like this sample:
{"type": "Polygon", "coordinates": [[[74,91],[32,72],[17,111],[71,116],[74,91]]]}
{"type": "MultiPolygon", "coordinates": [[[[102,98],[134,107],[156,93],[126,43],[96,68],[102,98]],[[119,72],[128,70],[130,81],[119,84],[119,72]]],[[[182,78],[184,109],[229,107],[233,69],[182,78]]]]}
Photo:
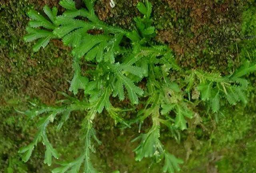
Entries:
{"type": "MultiPolygon", "coordinates": [[[[96,13],[110,25],[132,29],[139,0],[97,0],[96,13]]],[[[44,165],[44,146],[38,145],[28,163],[21,161],[18,149],[28,144],[36,132],[36,120],[27,120],[15,109],[30,108],[29,102],[54,104],[58,91],[68,92],[72,79],[70,49],[61,41],[50,42],[37,53],[32,43],[24,43],[30,8],[42,11],[44,5],[57,6],[51,0],[0,0],[0,172],[46,173],[56,165],[44,165]]],[[[176,61],[184,69],[203,69],[228,74],[245,59],[256,61],[255,0],[152,0],[156,43],[173,49],[176,61]]],[[[174,74],[175,75],[175,74],[174,74]]],[[[181,142],[161,132],[166,149],[184,160],[182,173],[255,173],[256,172],[256,83],[250,81],[248,104],[226,106],[219,114],[207,105],[198,106],[198,114],[181,132],[181,142]]],[[[176,79],[182,83],[182,78],[176,79]]],[[[71,93],[69,93],[71,94],[71,93]]],[[[62,153],[60,159],[74,159],[81,151],[79,143],[82,112],[74,112],[62,131],[56,124],[48,128],[50,141],[62,153]]],[[[150,124],[144,124],[146,130],[150,124]]],[[[160,173],[161,166],[151,159],[134,160],[130,141],[138,135],[138,126],[122,130],[109,116],[101,114],[96,122],[102,145],[92,157],[104,173],[160,173]]]]}

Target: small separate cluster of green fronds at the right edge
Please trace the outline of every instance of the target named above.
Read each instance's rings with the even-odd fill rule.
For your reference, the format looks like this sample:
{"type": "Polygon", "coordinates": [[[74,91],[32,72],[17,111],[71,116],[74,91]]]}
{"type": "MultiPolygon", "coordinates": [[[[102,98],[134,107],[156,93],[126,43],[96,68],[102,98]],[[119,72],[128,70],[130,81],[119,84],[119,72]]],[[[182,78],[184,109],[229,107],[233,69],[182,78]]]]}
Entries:
{"type": "Polygon", "coordinates": [[[190,92],[195,77],[199,79],[198,90],[202,101],[209,101],[213,112],[220,109],[220,99],[226,98],[229,104],[236,105],[242,101],[247,104],[246,89],[248,81],[243,79],[247,74],[256,71],[256,65],[246,61],[242,67],[237,69],[231,75],[224,77],[216,73],[204,73],[202,71],[193,71],[186,80],[188,83],[186,91],[190,92]]]}

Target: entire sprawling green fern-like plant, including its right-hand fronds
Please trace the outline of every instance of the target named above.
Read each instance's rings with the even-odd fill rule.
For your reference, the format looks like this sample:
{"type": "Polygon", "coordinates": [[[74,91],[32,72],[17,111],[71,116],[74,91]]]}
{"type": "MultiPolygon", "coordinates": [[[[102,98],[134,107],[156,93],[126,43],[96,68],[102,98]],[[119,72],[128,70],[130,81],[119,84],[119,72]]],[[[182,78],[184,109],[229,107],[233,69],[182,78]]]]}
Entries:
{"type": "Polygon", "coordinates": [[[59,154],[47,138],[48,124],[53,122],[56,116],[61,116],[56,127],[60,130],[72,111],[83,111],[86,112],[81,129],[84,151],[74,161],[60,163],[60,167],[52,172],[77,173],[81,167],[85,173],[98,172],[90,161],[90,153],[95,151],[93,143],[100,144],[93,121],[105,109],[116,123],[128,128],[134,123],[142,124],[146,118],[151,118],[152,127],[148,132],[139,134],[133,140],[140,142],[134,149],[136,160],[153,157],[156,162],[164,160],[163,172],[179,171],[179,164],[183,161],[164,149],[160,141],[161,125],[170,130],[177,142],[180,141],[180,131],[187,128],[186,118],[192,118],[194,115],[194,105],[184,96],[194,87],[196,77],[199,79],[198,90],[202,101],[209,101],[214,112],[220,108],[221,97],[226,97],[230,104],[240,100],[246,103],[244,91],[247,81],[241,77],[255,71],[255,65],[247,63],[236,73],[225,77],[192,71],[186,79],[188,86],[184,92],[181,86],[170,80],[171,70],[183,73],[176,65],[172,51],[167,45],[156,45],[152,40],[155,28],[150,18],[152,4],[148,0],[138,3],[137,8],[142,16],[134,19],[136,28],[132,31],[106,25],[94,12],[95,0],[83,2],[86,8],[77,9],[73,0],[61,0],[59,4],[66,11],[60,16],[57,8],[50,9],[48,6],[44,7],[47,18],[34,10],[28,12],[30,22],[24,40],[37,40],[34,51],[46,47],[51,39],[62,39],[64,45],[72,47],[74,77],[69,90],[74,95],[82,90],[84,97],[77,99],[63,93],[66,99],[59,100],[56,106],[33,105],[35,108],[32,110],[19,111],[29,118],[42,115],[34,140],[19,151],[24,153],[22,159],[28,161],[36,144],[42,142],[46,147],[44,163],[50,166],[52,157],[58,159],[59,154]],[[96,34],[95,31],[100,32],[96,34]],[[121,44],[124,42],[126,44],[121,44]],[[82,59],[93,68],[82,71],[82,59]],[[141,88],[139,84],[145,84],[146,87],[141,88]],[[143,109],[138,111],[136,118],[124,120],[119,115],[122,108],[111,104],[112,97],[118,97],[120,101],[128,97],[132,105],[140,104],[143,109]],[[147,101],[141,102],[141,97],[147,101]],[[174,114],[175,118],[171,114],[174,114]]]}

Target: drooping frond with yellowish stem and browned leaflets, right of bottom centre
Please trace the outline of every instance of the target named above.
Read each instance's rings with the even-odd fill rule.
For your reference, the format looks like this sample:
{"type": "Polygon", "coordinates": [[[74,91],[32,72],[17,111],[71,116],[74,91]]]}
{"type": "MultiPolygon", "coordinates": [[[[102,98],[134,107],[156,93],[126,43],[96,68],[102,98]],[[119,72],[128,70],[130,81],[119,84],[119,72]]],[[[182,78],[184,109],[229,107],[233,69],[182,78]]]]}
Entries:
{"type": "Polygon", "coordinates": [[[179,164],[183,162],[164,150],[164,146],[159,140],[160,124],[167,126],[172,136],[179,142],[180,134],[178,130],[187,128],[184,117],[192,118],[194,113],[184,102],[180,87],[176,83],[168,81],[165,77],[162,79],[162,83],[158,80],[153,74],[150,74],[148,78],[148,102],[146,103],[146,108],[139,112],[135,122],[143,122],[151,116],[152,127],[147,134],[140,134],[133,140],[133,142],[140,141],[134,151],[138,161],[141,161],[144,157],[154,157],[156,162],[160,162],[164,158],[163,171],[173,173],[174,170],[180,170],[179,164]],[[147,105],[151,105],[151,107],[147,108],[147,105]],[[170,111],[175,112],[175,119],[168,114],[170,111]]]}

